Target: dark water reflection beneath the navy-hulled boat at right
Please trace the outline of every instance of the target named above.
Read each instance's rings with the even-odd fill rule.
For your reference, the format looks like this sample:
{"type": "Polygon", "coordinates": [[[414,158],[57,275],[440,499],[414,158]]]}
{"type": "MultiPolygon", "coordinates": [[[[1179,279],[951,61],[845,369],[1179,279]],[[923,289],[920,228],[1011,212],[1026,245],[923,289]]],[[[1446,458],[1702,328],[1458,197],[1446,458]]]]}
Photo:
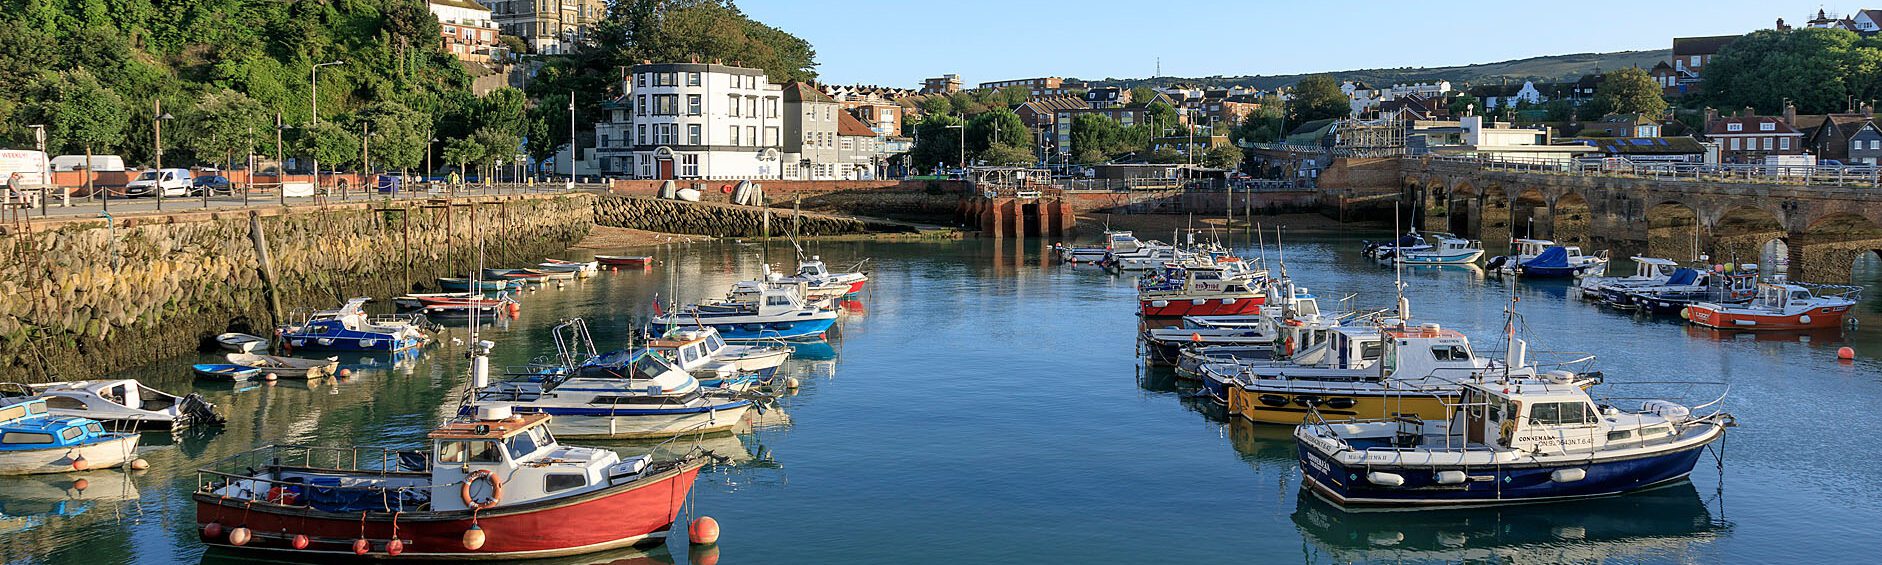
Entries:
{"type": "Polygon", "coordinates": [[[1688,480],[1619,497],[1417,512],[1348,512],[1300,490],[1300,537],[1334,561],[1690,561],[1731,524],[1688,480]]]}

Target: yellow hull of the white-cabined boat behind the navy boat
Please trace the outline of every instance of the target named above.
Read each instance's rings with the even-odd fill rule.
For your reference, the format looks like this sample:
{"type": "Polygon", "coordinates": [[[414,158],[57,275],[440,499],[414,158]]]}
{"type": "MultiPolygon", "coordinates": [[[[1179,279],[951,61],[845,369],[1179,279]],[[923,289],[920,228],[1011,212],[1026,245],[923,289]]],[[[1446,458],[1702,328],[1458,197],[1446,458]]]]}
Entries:
{"type": "MultiPolygon", "coordinates": [[[[1208,380],[1208,379],[1204,379],[1208,380]]],[[[1459,396],[1387,394],[1387,392],[1280,392],[1227,386],[1229,414],[1240,414],[1255,424],[1300,426],[1308,407],[1317,405],[1327,422],[1417,416],[1427,422],[1445,422],[1459,396]]]]}

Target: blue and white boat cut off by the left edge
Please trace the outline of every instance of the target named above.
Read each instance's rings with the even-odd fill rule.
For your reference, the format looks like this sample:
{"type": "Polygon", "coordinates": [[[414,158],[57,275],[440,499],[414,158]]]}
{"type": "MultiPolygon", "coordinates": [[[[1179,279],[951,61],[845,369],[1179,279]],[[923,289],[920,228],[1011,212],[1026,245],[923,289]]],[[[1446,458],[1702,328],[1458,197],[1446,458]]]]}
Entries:
{"type": "Polygon", "coordinates": [[[43,397],[0,407],[0,475],[104,469],[136,460],[137,433],[109,433],[98,420],[47,411],[43,397]]]}

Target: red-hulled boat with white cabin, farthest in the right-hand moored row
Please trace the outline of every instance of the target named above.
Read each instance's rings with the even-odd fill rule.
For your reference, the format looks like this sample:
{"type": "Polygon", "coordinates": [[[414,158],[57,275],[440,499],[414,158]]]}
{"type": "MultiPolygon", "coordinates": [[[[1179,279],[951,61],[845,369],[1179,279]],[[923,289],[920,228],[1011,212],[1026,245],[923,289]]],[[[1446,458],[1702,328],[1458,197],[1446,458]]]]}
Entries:
{"type": "Polygon", "coordinates": [[[1265,279],[1242,262],[1172,264],[1137,284],[1137,305],[1144,318],[1255,315],[1265,279]]]}

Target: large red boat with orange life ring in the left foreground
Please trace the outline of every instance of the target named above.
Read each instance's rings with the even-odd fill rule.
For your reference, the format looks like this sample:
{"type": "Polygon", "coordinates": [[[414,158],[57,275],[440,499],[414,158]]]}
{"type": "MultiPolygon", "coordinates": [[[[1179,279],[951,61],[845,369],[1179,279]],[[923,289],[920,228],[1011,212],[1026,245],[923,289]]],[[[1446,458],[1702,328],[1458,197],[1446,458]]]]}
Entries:
{"type": "Polygon", "coordinates": [[[309,559],[521,559],[659,544],[704,458],[621,460],[555,443],[548,422],[482,407],[431,431],[431,450],[243,452],[198,471],[198,533],[213,546],[309,559]]]}

